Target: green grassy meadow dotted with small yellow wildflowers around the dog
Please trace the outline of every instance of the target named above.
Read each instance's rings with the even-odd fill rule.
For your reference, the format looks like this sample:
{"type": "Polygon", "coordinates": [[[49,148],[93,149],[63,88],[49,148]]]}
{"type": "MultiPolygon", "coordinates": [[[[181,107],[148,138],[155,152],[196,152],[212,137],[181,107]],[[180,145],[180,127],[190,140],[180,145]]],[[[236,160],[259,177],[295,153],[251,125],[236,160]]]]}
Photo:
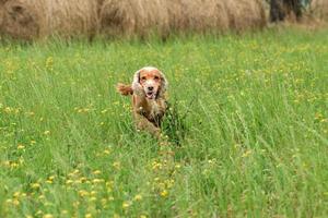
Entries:
{"type": "Polygon", "coordinates": [[[327,217],[327,36],[2,44],[0,217],[327,217]],[[114,88],[144,65],[165,145],[114,88]]]}

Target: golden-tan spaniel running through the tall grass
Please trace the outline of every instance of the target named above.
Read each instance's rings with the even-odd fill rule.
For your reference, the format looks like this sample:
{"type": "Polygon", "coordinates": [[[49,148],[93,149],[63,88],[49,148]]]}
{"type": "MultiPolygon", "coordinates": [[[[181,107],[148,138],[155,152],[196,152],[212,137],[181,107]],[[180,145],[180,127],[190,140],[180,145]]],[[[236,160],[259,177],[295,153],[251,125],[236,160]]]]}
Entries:
{"type": "Polygon", "coordinates": [[[137,130],[160,137],[161,120],[166,111],[166,88],[167,81],[164,74],[153,66],[137,71],[131,85],[117,84],[118,93],[125,96],[132,95],[137,130]]]}

